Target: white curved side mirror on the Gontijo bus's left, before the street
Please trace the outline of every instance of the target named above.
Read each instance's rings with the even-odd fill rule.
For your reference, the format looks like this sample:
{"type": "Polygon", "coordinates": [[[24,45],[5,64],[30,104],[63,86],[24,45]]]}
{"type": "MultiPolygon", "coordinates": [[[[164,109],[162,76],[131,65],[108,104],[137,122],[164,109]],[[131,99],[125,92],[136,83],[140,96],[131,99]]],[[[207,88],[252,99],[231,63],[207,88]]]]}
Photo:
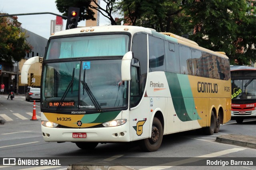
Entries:
{"type": "Polygon", "coordinates": [[[28,84],[28,70],[31,64],[39,63],[39,57],[32,57],[28,59],[22,66],[21,74],[20,74],[20,82],[21,84],[28,84]]]}

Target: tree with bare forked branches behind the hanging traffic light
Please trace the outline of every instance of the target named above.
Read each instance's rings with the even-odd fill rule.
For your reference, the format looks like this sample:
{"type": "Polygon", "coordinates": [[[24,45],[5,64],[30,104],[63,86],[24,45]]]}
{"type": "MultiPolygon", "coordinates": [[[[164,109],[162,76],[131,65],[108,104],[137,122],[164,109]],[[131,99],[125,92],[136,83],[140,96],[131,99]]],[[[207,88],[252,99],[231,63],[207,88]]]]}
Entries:
{"type": "Polygon", "coordinates": [[[79,20],[96,20],[94,18],[94,12],[92,9],[99,11],[103,16],[108,18],[111,22],[111,25],[117,25],[115,19],[112,17],[113,6],[116,0],[102,0],[106,3],[106,8],[102,8],[97,0],[56,0],[57,9],[64,13],[64,16],[67,16],[68,8],[70,6],[80,8],[79,20]]]}

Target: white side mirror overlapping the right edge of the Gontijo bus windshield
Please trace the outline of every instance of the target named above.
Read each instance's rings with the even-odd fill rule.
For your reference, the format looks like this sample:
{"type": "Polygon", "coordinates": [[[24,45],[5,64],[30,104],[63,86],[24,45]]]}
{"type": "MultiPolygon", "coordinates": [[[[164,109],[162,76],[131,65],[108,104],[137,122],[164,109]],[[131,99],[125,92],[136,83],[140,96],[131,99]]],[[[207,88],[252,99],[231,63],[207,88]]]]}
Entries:
{"type": "Polygon", "coordinates": [[[122,58],[121,75],[122,81],[131,80],[132,51],[128,51],[122,58]]]}

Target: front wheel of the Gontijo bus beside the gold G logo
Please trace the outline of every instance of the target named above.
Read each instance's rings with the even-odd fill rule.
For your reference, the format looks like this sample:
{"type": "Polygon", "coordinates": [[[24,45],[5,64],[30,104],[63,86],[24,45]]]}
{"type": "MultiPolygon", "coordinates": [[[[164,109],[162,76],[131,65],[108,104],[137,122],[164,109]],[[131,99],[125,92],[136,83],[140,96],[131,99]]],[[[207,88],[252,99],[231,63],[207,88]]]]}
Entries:
{"type": "Polygon", "coordinates": [[[154,152],[161,146],[163,140],[162,123],[156,117],[153,119],[151,138],[140,141],[140,148],[146,152],[154,152]]]}

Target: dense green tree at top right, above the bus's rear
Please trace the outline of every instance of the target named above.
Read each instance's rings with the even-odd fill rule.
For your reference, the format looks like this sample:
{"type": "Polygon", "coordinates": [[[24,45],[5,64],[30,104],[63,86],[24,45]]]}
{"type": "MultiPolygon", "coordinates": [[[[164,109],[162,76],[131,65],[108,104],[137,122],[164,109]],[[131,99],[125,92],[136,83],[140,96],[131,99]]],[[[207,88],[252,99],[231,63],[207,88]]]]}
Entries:
{"type": "Polygon", "coordinates": [[[224,51],[232,64],[250,64],[250,59],[255,60],[255,52],[248,55],[254,51],[253,41],[256,42],[249,36],[255,30],[255,17],[248,16],[250,7],[244,0],[184,0],[183,4],[186,15],[180,21],[187,30],[194,30],[190,39],[212,51],[224,51]]]}

